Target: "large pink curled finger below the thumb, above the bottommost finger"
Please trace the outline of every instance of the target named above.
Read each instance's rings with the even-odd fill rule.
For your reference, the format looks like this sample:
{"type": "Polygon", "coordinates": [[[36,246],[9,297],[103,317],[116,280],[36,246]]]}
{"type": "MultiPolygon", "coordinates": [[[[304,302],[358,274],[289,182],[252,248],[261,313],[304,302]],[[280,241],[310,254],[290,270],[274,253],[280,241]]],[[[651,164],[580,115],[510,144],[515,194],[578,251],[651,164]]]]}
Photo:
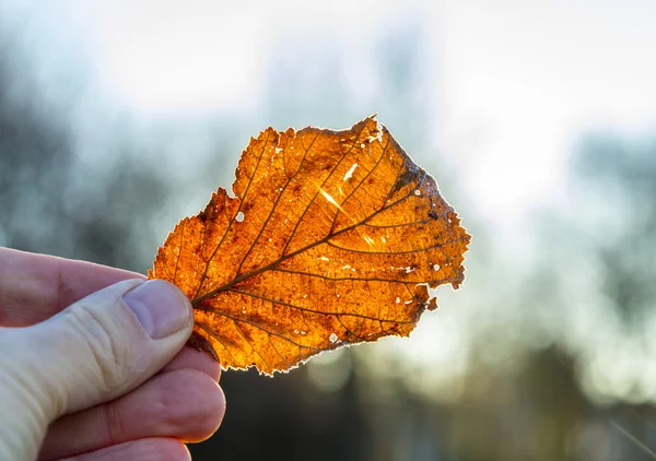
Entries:
{"type": "Polygon", "coordinates": [[[200,441],[223,419],[225,398],[195,369],[157,375],[122,398],[50,425],[39,459],[58,459],[148,437],[200,441]]]}

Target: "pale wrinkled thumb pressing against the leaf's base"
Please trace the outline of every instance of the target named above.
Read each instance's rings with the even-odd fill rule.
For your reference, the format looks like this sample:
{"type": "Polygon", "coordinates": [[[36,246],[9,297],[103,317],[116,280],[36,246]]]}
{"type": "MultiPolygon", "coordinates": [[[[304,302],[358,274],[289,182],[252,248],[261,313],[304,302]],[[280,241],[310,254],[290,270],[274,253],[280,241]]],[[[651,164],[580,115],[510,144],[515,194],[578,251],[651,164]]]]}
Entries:
{"type": "Polygon", "coordinates": [[[192,324],[191,305],[178,288],[137,279],[42,323],[0,329],[0,454],[3,439],[9,454],[17,454],[2,459],[35,458],[55,418],[145,381],[184,346],[192,324]]]}

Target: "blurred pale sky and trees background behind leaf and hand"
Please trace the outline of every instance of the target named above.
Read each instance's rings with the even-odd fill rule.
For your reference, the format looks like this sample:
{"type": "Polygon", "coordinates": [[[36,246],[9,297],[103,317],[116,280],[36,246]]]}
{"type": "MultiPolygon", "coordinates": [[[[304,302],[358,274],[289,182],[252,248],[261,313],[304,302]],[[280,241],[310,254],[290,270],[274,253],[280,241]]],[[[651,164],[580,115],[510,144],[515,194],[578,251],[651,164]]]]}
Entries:
{"type": "Polygon", "coordinates": [[[473,236],[409,340],[224,373],[195,460],[656,459],[656,2],[0,2],[0,245],[139,272],[267,126],[377,113],[473,236]]]}

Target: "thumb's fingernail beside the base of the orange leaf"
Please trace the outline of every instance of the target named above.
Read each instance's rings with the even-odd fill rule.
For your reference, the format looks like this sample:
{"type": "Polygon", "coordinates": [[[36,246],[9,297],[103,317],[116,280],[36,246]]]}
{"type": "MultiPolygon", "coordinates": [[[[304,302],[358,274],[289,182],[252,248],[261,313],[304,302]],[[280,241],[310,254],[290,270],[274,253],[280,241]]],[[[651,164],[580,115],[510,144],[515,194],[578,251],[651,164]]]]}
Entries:
{"type": "Polygon", "coordinates": [[[191,315],[184,293],[163,280],[149,280],[126,293],[122,299],[153,340],[179,331],[191,315]]]}

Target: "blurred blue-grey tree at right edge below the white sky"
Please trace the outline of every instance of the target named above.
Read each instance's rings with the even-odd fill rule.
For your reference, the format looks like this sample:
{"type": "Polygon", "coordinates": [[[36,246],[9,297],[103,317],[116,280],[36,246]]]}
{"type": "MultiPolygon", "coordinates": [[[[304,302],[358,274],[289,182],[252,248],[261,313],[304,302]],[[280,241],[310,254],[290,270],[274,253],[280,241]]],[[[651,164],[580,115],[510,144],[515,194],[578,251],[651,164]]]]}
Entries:
{"type": "Polygon", "coordinates": [[[590,137],[574,167],[591,189],[586,199],[596,199],[595,220],[576,223],[577,238],[593,243],[601,289],[642,330],[656,310],[656,138],[590,137]]]}

